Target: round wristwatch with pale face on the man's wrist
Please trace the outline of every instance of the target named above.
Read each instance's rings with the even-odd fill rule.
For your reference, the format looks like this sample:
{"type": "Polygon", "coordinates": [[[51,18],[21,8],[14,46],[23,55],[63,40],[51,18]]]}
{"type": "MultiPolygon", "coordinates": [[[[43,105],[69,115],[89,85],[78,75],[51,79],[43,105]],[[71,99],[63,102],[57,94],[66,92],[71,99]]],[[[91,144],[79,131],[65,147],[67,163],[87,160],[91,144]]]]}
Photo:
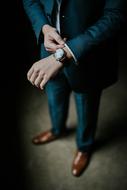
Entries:
{"type": "Polygon", "coordinates": [[[56,50],[53,56],[55,57],[56,61],[63,63],[66,59],[66,52],[62,48],[60,48],[56,50]]]}

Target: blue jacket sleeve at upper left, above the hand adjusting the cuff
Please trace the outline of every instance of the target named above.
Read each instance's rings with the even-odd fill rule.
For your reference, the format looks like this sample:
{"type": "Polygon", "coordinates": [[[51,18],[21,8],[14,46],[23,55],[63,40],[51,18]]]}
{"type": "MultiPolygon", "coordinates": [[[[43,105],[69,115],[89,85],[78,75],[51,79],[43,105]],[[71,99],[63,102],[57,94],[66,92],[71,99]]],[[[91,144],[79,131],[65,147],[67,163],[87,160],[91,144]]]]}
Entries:
{"type": "Polygon", "coordinates": [[[42,26],[49,24],[48,19],[45,16],[43,5],[39,0],[23,0],[24,9],[28,15],[32,28],[35,32],[37,42],[39,42],[42,26]]]}

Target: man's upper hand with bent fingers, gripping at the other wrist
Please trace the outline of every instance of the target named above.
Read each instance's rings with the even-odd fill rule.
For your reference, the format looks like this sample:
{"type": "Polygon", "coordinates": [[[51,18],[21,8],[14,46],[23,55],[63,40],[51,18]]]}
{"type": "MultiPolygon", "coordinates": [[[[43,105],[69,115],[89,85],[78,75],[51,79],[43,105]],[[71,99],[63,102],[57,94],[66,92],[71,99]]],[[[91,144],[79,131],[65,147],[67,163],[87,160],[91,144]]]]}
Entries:
{"type": "Polygon", "coordinates": [[[64,48],[65,40],[57,33],[56,28],[46,24],[42,28],[44,34],[44,46],[49,52],[54,53],[59,48],[64,48]]]}

